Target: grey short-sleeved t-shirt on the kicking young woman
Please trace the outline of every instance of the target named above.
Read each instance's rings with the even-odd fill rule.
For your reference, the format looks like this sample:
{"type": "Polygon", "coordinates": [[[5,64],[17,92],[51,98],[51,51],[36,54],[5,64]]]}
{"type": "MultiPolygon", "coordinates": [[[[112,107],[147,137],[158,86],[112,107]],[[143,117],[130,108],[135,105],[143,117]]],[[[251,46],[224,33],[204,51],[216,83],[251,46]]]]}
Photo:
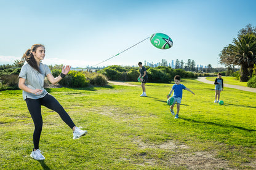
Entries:
{"type": "Polygon", "coordinates": [[[40,69],[41,73],[36,71],[36,69],[32,68],[30,66],[30,64],[28,64],[28,63],[25,63],[22,66],[22,70],[20,71],[20,75],[18,75],[18,77],[26,79],[25,85],[28,88],[41,89],[42,90],[42,93],[40,95],[34,95],[33,93],[28,93],[28,92],[23,90],[22,96],[23,96],[24,100],[26,98],[30,98],[30,99],[43,98],[48,93],[44,89],[44,77],[46,77],[47,74],[51,73],[50,69],[46,64],[42,64],[42,63],[40,63],[40,68],[39,69],[40,69]]]}

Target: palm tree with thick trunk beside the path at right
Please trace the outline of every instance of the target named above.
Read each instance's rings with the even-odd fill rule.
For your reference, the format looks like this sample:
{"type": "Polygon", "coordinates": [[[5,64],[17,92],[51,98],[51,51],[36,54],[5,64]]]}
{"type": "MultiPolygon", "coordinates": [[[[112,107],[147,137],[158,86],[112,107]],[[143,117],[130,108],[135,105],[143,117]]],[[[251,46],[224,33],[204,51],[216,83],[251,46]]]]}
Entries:
{"type": "Polygon", "coordinates": [[[256,36],[254,34],[242,35],[233,39],[233,44],[228,46],[226,54],[233,58],[233,63],[241,66],[241,82],[249,80],[249,68],[256,64],[256,36]]]}

